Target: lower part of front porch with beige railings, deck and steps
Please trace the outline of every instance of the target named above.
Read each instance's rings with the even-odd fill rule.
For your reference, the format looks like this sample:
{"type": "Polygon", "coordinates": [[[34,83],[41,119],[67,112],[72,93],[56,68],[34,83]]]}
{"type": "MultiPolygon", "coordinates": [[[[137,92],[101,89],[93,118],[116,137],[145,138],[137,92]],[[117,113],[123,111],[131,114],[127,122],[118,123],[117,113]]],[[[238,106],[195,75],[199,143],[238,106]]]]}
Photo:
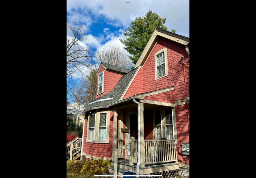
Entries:
{"type": "MultiPolygon", "coordinates": [[[[133,172],[134,175],[164,174],[164,177],[173,177],[179,170],[175,141],[144,140],[143,148],[145,155],[141,155],[141,162],[144,162],[145,166],[138,167],[138,140],[135,140],[135,137],[130,137],[130,141],[123,144],[122,139],[117,139],[117,149],[114,149],[113,167],[108,168],[109,172],[112,175],[123,175],[124,172],[133,172]]],[[[111,177],[111,175],[109,176],[111,177]]]]}

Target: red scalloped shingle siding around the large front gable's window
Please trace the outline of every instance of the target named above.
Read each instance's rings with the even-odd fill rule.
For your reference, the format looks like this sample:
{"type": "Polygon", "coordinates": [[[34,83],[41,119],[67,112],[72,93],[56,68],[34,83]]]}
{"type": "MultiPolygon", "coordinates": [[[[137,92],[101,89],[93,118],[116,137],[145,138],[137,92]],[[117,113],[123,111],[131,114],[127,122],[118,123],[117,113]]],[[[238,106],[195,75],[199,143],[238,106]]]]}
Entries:
{"type": "MultiPolygon", "coordinates": [[[[173,41],[160,38],[146,63],[139,70],[134,81],[130,85],[123,99],[130,96],[137,95],[139,93],[146,93],[149,91],[156,91],[167,87],[174,86],[173,100],[179,100],[184,98],[184,74],[183,66],[180,64],[181,56],[188,57],[185,46],[175,43],[173,41]],[[167,47],[167,63],[168,63],[168,76],[155,80],[155,53],[159,50],[167,47]]],[[[185,75],[186,75],[186,89],[187,95],[189,91],[189,62],[185,63],[185,75]]],[[[151,100],[156,100],[152,99],[151,100]]],[[[159,98],[161,99],[161,98],[159,98]]],[[[166,102],[166,101],[165,101],[166,102]]]]}

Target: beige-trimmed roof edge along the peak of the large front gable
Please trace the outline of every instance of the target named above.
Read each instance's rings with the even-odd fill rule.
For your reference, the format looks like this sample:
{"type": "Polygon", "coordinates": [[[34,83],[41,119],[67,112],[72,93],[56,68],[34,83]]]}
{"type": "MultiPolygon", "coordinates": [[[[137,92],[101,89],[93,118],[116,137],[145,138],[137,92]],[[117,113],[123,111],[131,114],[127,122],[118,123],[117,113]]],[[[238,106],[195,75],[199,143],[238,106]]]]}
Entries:
{"type": "MultiPolygon", "coordinates": [[[[150,55],[152,49],[154,48],[156,42],[160,39],[160,37],[164,37],[166,39],[169,39],[171,41],[174,41],[176,43],[180,43],[181,45],[184,45],[186,47],[189,47],[189,38],[178,35],[176,33],[168,32],[166,30],[162,30],[160,28],[155,28],[154,32],[152,33],[150,39],[148,40],[147,45],[145,46],[143,52],[141,53],[141,56],[139,56],[139,59],[137,63],[135,64],[134,68],[139,67],[145,63],[148,56],[150,55]]],[[[188,49],[189,53],[189,49],[188,49]]]]}

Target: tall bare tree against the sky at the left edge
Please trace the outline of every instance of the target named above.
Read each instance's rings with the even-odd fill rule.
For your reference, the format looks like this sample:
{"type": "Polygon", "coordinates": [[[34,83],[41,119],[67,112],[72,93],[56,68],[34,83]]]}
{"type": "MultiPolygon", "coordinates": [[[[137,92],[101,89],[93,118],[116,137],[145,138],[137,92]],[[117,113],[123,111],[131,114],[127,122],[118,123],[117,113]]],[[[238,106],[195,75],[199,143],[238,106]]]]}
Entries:
{"type": "Polygon", "coordinates": [[[93,50],[85,42],[88,41],[87,31],[80,24],[76,25],[76,19],[67,24],[67,88],[74,83],[77,72],[82,76],[84,67],[91,66],[94,56],[93,50]]]}

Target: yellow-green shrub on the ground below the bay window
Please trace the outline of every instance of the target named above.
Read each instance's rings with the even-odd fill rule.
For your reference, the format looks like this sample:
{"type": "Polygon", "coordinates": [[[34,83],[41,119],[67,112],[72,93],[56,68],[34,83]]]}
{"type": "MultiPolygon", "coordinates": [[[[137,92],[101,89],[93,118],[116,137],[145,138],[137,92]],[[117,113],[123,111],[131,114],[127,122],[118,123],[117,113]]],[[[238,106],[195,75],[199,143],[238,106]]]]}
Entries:
{"type": "Polygon", "coordinates": [[[103,156],[96,160],[89,159],[85,162],[80,172],[89,176],[103,175],[103,173],[108,173],[108,167],[111,167],[111,160],[104,160],[103,156]]]}

